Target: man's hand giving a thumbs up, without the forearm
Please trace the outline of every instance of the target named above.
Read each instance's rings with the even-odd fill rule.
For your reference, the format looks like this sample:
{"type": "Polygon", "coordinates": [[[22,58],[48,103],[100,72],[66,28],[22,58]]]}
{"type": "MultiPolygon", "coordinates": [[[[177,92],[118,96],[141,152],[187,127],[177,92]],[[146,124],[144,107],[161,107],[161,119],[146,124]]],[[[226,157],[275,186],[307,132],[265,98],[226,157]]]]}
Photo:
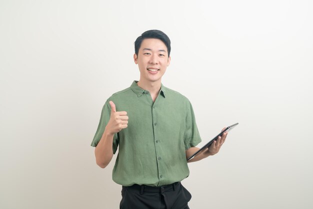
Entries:
{"type": "Polygon", "coordinates": [[[111,115],[105,129],[110,134],[114,134],[127,127],[128,116],[126,111],[116,111],[113,101],[109,101],[109,104],[111,106],[111,115]]]}

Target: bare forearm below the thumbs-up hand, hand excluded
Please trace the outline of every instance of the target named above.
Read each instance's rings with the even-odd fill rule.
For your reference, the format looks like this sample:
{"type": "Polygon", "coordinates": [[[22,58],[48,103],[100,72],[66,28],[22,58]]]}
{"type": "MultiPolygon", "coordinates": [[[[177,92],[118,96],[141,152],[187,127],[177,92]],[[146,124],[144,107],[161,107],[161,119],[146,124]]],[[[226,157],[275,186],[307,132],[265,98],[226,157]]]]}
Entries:
{"type": "Polygon", "coordinates": [[[99,143],[94,149],[96,164],[101,168],[106,167],[113,157],[113,135],[104,130],[99,143]]]}

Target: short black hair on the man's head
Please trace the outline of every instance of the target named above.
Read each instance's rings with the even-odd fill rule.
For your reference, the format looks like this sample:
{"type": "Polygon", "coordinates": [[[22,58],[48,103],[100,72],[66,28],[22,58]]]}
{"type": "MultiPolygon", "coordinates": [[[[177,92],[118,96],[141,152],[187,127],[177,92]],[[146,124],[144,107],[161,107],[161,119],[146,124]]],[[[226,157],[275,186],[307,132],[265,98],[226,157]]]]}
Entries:
{"type": "Polygon", "coordinates": [[[138,55],[138,50],[141,46],[141,42],[145,38],[157,38],[157,39],[160,39],[161,41],[163,41],[163,43],[167,47],[167,53],[169,56],[169,53],[170,53],[169,37],[164,32],[162,32],[161,30],[155,30],[155,29],[154,30],[147,30],[147,31],[143,32],[139,37],[137,37],[137,39],[134,42],[136,55],[138,55]]]}

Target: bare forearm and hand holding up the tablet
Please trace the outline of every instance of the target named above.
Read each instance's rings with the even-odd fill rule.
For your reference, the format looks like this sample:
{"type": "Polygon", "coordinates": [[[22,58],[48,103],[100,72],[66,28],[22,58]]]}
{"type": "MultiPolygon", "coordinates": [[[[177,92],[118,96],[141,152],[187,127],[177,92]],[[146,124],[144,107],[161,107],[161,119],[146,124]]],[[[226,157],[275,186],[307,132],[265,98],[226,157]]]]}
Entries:
{"type": "MultiPolygon", "coordinates": [[[[227,131],[224,132],[221,136],[218,136],[217,140],[214,140],[213,143],[208,148],[203,149],[202,151],[197,153],[188,162],[195,162],[195,161],[201,160],[201,159],[203,159],[205,157],[208,157],[210,155],[216,154],[219,151],[221,145],[225,142],[226,136],[227,136],[227,131]]],[[[194,152],[196,152],[199,149],[200,148],[198,148],[198,147],[190,147],[190,148],[188,148],[186,150],[186,159],[189,158],[189,156],[191,156],[194,152]]]]}

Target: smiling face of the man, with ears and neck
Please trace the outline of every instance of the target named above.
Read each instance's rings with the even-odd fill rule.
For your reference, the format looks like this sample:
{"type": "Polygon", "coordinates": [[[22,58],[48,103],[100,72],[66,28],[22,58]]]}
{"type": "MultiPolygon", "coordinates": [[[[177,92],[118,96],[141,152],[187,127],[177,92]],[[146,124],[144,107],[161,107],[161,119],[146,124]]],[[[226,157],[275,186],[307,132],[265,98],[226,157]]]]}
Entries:
{"type": "Polygon", "coordinates": [[[170,62],[166,45],[157,38],[143,39],[133,59],[139,67],[140,81],[144,83],[160,81],[170,62]]]}

